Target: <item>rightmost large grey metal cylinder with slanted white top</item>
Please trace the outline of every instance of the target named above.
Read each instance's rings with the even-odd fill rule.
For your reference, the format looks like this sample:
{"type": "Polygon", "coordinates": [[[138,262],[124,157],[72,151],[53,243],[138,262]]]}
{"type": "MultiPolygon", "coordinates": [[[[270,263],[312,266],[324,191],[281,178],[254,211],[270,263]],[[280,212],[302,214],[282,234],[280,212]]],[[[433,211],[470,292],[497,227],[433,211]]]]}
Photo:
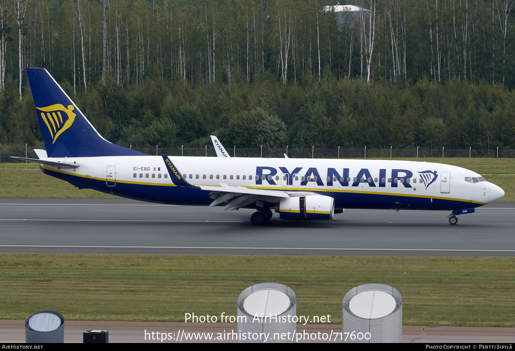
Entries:
{"type": "Polygon", "coordinates": [[[352,288],[344,297],[342,312],[344,343],[402,341],[402,296],[396,288],[384,284],[352,288]]]}

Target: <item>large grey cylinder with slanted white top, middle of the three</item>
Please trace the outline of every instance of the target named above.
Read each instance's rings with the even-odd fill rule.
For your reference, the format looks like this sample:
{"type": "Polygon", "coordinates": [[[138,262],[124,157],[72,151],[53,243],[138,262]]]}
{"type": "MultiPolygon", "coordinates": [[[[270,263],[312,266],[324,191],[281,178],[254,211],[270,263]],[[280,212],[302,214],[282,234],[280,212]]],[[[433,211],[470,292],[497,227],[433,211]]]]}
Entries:
{"type": "Polygon", "coordinates": [[[261,283],[248,287],[238,296],[237,310],[238,342],[295,342],[297,296],[286,285],[261,283]]]}

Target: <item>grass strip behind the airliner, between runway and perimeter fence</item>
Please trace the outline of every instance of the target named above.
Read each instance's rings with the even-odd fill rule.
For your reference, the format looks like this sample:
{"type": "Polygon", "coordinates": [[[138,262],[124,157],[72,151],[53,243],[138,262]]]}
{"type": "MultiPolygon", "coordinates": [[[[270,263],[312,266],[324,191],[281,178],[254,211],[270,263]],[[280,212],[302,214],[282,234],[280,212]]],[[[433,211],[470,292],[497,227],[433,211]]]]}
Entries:
{"type": "MultiPolygon", "coordinates": [[[[391,159],[385,159],[391,160],[391,159]]],[[[464,167],[499,185],[506,195],[498,202],[515,202],[515,159],[409,158],[406,161],[437,162],[464,167]]],[[[46,176],[33,163],[0,164],[0,198],[113,199],[102,192],[74,187],[46,176]],[[32,170],[29,170],[32,169],[32,170]]]]}

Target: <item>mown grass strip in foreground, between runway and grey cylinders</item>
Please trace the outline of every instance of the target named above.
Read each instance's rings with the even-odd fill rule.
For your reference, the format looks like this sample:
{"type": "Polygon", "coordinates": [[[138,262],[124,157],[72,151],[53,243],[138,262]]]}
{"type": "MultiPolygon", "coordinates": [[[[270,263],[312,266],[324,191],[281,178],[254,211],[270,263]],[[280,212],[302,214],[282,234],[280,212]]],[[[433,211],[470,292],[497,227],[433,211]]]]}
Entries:
{"type": "Polygon", "coordinates": [[[0,254],[0,319],[56,310],[66,320],[183,321],[236,314],[245,288],[289,286],[297,315],[341,323],[351,288],[403,297],[404,325],[515,326],[515,258],[0,254]]]}

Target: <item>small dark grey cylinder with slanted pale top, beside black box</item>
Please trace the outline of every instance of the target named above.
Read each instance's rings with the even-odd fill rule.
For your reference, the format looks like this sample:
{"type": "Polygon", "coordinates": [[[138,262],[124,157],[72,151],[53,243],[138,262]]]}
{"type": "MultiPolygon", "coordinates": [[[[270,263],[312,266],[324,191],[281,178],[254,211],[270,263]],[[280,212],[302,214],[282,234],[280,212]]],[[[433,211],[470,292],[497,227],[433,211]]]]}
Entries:
{"type": "Polygon", "coordinates": [[[25,342],[64,342],[64,318],[55,311],[39,311],[25,321],[25,342]]]}

